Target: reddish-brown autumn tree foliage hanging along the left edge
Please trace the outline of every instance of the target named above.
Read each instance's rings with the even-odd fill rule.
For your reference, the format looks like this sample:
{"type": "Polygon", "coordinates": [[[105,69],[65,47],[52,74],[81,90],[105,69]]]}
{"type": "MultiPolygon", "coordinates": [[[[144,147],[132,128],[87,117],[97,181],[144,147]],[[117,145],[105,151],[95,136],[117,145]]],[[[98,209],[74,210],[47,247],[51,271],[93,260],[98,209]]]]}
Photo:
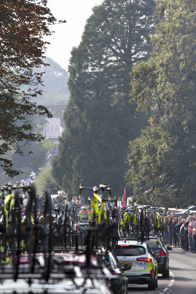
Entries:
{"type": "Polygon", "coordinates": [[[0,166],[14,176],[19,171],[12,169],[10,160],[3,158],[12,146],[23,154],[19,141],[41,141],[38,133],[32,132],[29,115],[45,114],[47,108],[31,102],[40,94],[42,83],[39,68],[43,61],[46,45],[44,35],[51,35],[48,24],[56,19],[47,8],[47,1],[2,0],[0,3],[0,166]],[[33,71],[36,68],[37,71],[33,71]],[[20,91],[28,85],[27,92],[20,91]]]}

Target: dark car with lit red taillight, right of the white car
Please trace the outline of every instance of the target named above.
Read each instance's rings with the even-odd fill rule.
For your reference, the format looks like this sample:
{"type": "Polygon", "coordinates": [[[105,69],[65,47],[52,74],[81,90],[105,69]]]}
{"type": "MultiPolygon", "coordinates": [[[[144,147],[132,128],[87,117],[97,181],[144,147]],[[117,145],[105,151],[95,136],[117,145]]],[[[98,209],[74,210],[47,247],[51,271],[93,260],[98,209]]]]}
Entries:
{"type": "Polygon", "coordinates": [[[151,252],[158,252],[159,256],[155,257],[158,263],[158,274],[162,274],[163,278],[169,278],[169,252],[168,250],[172,250],[172,247],[167,246],[165,248],[164,242],[160,239],[160,237],[149,237],[149,240],[146,241],[151,252]]]}

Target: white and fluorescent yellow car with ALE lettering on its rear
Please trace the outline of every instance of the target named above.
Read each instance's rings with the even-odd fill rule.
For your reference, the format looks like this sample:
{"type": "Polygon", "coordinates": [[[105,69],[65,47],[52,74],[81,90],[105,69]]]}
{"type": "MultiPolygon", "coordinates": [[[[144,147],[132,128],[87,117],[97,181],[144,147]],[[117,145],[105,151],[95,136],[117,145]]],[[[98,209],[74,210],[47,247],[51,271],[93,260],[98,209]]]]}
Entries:
{"type": "Polygon", "coordinates": [[[151,252],[148,245],[141,240],[120,240],[116,250],[116,256],[122,269],[124,264],[131,266],[130,270],[124,270],[129,284],[148,284],[148,290],[158,287],[158,264],[155,256],[157,252],[151,252]]]}

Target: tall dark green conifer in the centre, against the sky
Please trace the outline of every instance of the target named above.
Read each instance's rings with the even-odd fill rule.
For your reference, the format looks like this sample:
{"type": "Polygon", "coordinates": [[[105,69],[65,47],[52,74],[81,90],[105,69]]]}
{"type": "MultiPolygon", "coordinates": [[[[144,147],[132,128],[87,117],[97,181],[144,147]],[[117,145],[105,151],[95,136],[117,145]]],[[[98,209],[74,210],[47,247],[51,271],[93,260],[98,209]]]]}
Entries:
{"type": "Polygon", "coordinates": [[[154,9],[149,0],[103,1],[71,52],[66,132],[52,162],[53,177],[69,193],[78,193],[80,182],[108,183],[113,196],[123,195],[128,143],[146,123],[128,103],[129,72],[149,58],[154,9]]]}

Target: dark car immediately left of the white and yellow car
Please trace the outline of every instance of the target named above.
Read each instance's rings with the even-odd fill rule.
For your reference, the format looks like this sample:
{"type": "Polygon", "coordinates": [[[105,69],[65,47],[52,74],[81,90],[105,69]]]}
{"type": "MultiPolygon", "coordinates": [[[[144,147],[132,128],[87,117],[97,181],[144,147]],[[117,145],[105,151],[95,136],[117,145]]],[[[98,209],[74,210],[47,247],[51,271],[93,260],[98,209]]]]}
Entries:
{"type": "MultiPolygon", "coordinates": [[[[127,294],[128,293],[128,278],[126,277],[123,269],[120,266],[120,262],[118,258],[116,257],[115,253],[108,252],[108,254],[105,256],[105,258],[102,258],[102,262],[105,264],[106,268],[110,270],[110,273],[112,273],[113,278],[117,278],[119,281],[120,287],[117,288],[115,285],[115,288],[113,288],[113,285],[110,285],[110,289],[114,294],[127,294]]],[[[128,265],[125,265],[125,267],[128,265]]],[[[130,269],[131,266],[128,266],[128,269],[130,269]]]]}

